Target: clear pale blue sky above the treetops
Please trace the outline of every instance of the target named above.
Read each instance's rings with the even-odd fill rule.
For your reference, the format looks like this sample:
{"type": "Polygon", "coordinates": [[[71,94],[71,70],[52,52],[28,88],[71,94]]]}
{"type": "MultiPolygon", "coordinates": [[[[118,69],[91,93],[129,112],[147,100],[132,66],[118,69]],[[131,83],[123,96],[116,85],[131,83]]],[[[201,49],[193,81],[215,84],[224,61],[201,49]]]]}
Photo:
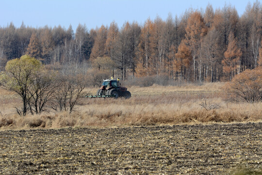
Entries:
{"type": "Polygon", "coordinates": [[[20,27],[22,21],[32,27],[67,29],[71,24],[75,32],[79,23],[91,29],[113,20],[121,27],[126,21],[143,24],[157,15],[165,20],[169,12],[179,17],[189,8],[205,10],[208,3],[214,10],[230,4],[241,16],[248,0],[0,0],[0,27],[10,22],[20,27]]]}

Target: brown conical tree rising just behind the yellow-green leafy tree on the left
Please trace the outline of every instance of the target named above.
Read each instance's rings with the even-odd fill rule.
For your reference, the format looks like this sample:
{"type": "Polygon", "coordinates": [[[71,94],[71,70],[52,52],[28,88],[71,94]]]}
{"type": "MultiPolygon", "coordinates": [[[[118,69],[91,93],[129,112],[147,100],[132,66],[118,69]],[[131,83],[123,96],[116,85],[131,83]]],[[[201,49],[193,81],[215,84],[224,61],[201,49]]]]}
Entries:
{"type": "Polygon", "coordinates": [[[31,35],[30,42],[27,48],[27,54],[38,59],[41,57],[41,44],[35,32],[33,32],[33,34],[31,35]]]}

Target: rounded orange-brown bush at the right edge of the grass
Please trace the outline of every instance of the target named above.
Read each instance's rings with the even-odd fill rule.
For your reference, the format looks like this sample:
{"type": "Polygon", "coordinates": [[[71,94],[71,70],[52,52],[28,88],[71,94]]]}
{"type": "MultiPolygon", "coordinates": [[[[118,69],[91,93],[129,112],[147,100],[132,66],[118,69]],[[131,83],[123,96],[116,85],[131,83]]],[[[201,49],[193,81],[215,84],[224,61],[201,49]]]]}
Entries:
{"type": "Polygon", "coordinates": [[[225,84],[230,98],[237,102],[260,102],[262,100],[262,70],[245,70],[225,84]]]}

